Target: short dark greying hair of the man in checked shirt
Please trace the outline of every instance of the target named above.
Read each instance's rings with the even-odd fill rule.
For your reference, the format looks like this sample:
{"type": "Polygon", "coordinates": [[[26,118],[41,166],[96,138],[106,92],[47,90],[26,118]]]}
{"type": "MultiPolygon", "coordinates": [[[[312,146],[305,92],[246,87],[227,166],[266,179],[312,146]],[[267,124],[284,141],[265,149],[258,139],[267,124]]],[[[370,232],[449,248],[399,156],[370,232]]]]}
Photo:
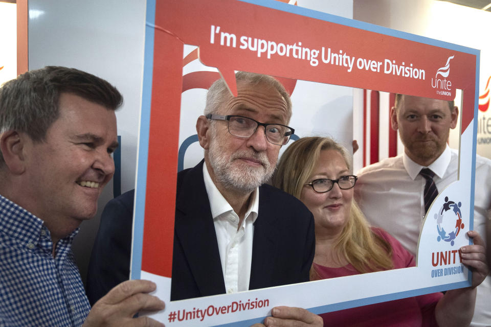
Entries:
{"type": "MultiPolygon", "coordinates": [[[[75,68],[46,66],[18,76],[0,88],[0,135],[16,130],[42,142],[59,117],[59,97],[72,93],[116,110],[123,96],[107,81],[75,68]]],[[[0,165],[4,162],[0,152],[0,165]]]]}

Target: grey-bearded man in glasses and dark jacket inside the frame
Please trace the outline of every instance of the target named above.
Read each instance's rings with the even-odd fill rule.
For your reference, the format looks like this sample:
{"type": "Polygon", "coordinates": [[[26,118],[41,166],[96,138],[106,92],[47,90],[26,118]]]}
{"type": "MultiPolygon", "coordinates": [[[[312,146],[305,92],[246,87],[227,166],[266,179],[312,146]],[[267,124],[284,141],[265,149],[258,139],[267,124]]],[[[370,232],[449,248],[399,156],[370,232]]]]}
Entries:
{"type": "MultiPolygon", "coordinates": [[[[196,122],[204,160],[177,175],[171,300],[309,280],[313,216],[293,196],[264,184],[294,133],[287,126],[289,95],[270,76],[239,72],[236,80],[237,97],[221,79],[210,87],[204,115],[196,122]]],[[[126,271],[119,276],[107,271],[129,267],[132,199],[131,191],[105,208],[91,259],[90,274],[97,277],[89,279],[89,294],[104,295],[101,289],[127,278],[126,271]],[[121,228],[122,217],[129,223],[123,227],[124,253],[118,255],[123,233],[115,229],[121,228]],[[124,264],[115,258],[124,258],[124,264]],[[103,285],[104,279],[110,282],[103,285]]],[[[295,320],[322,325],[320,317],[299,308],[278,307],[272,313],[266,325],[295,320]]]]}

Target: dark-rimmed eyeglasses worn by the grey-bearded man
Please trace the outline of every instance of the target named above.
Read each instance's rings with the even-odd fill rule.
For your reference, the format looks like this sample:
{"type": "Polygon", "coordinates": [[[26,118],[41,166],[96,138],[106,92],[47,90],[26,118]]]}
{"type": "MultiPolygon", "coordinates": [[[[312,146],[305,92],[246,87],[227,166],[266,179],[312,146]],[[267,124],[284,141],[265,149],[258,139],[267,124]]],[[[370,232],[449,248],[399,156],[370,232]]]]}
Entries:
{"type": "Polygon", "coordinates": [[[288,143],[290,136],[295,133],[291,127],[281,124],[264,124],[259,123],[251,118],[237,115],[219,115],[207,114],[206,118],[218,121],[228,121],[229,133],[237,137],[251,137],[257,130],[258,126],[264,126],[264,133],[268,142],[276,145],[285,145],[288,143]]]}

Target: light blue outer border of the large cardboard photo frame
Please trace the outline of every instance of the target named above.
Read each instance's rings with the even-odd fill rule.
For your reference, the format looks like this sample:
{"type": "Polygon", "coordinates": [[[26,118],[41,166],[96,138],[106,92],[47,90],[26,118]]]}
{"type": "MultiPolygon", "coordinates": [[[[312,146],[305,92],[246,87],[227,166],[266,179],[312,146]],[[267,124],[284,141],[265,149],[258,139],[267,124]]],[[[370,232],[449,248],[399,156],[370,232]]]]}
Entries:
{"type": "MultiPolygon", "coordinates": [[[[135,215],[139,217],[144,217],[145,215],[145,196],[146,196],[146,178],[147,178],[147,164],[148,164],[148,140],[149,140],[149,125],[150,125],[150,108],[151,108],[151,95],[152,95],[152,79],[153,79],[153,42],[154,42],[154,24],[155,24],[155,4],[157,0],[147,0],[146,8],[146,27],[145,27],[145,54],[144,54],[144,75],[143,75],[143,92],[142,92],[142,111],[140,118],[140,142],[138,149],[138,168],[137,168],[137,184],[139,191],[136,193],[135,197],[135,215]]],[[[359,28],[379,34],[389,35],[397,38],[402,38],[406,40],[416,41],[419,43],[424,43],[428,45],[438,46],[439,48],[445,48],[450,50],[455,50],[463,53],[468,53],[476,56],[476,89],[475,89],[475,101],[474,101],[474,131],[477,130],[477,120],[475,119],[478,114],[478,97],[479,97],[479,60],[480,51],[472,48],[467,48],[466,46],[461,46],[453,43],[448,43],[444,41],[439,41],[431,39],[424,36],[419,36],[407,32],[401,32],[397,30],[392,30],[389,28],[369,24],[367,22],[362,22],[358,20],[353,20],[349,18],[339,17],[327,13],[322,13],[302,7],[292,6],[285,3],[277,1],[264,1],[264,0],[238,0],[262,7],[272,8],[281,10],[284,12],[290,12],[298,15],[303,15],[311,18],[316,18],[324,21],[333,22],[336,24],[349,26],[353,28],[359,28]]],[[[473,153],[476,153],[477,139],[476,133],[473,135],[473,153]]],[[[194,140],[187,140],[188,142],[194,140]]],[[[192,143],[192,142],[191,142],[192,143]]],[[[189,146],[189,144],[187,145],[189,146]]],[[[187,147],[186,146],[186,147],[187,147]]],[[[184,153],[179,153],[179,157],[184,159],[184,153]]],[[[475,181],[475,166],[476,158],[472,158],[471,167],[472,180],[475,181]]],[[[181,167],[182,168],[182,167],[181,167]]],[[[471,187],[471,203],[474,202],[474,182],[471,187]]],[[[471,224],[470,228],[474,225],[474,211],[471,211],[471,224]]],[[[138,279],[141,276],[141,263],[142,263],[142,243],[143,243],[143,221],[139,221],[138,224],[133,224],[133,244],[132,244],[132,254],[131,254],[131,278],[138,279]]],[[[472,242],[470,242],[472,243],[472,242]]],[[[351,300],[340,303],[333,303],[331,305],[320,306],[315,308],[309,308],[313,313],[325,313],[337,310],[343,310],[347,308],[352,308],[356,306],[370,305],[382,301],[396,300],[405,297],[418,296],[422,294],[428,294],[433,292],[439,292],[449,289],[456,289],[467,287],[471,282],[472,276],[469,277],[468,282],[458,282],[452,284],[439,285],[428,288],[421,288],[416,290],[385,294],[381,296],[374,296],[369,298],[351,300]],[[354,306],[353,306],[354,304],[354,306]]],[[[265,317],[255,318],[250,320],[242,320],[238,322],[232,322],[227,324],[221,324],[219,326],[242,326],[250,325],[257,322],[262,322],[265,317]]]]}

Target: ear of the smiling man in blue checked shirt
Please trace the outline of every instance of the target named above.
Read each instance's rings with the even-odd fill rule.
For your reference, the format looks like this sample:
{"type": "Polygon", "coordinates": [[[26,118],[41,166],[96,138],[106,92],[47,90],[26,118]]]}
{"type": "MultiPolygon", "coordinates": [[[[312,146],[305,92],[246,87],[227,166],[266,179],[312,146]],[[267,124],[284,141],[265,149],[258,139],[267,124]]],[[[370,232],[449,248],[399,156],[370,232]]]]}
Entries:
{"type": "Polygon", "coordinates": [[[26,134],[17,131],[6,131],[0,135],[0,151],[8,170],[15,175],[25,171],[25,141],[26,134]]]}

